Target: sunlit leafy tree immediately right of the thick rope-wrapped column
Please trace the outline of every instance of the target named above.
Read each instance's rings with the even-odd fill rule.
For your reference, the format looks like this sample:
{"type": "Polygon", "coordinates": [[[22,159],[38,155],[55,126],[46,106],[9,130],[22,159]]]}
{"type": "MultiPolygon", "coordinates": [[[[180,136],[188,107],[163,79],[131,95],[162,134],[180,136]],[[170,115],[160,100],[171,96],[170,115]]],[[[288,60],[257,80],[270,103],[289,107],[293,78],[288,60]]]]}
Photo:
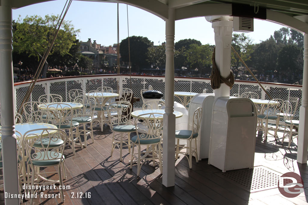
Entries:
{"type": "MultiPolygon", "coordinates": [[[[243,59],[244,62],[250,60],[250,54],[252,53],[252,39],[245,34],[235,34],[233,33],[231,45],[243,59]]],[[[231,67],[233,69],[238,69],[240,65],[240,59],[234,52],[231,52],[231,67]]]]}

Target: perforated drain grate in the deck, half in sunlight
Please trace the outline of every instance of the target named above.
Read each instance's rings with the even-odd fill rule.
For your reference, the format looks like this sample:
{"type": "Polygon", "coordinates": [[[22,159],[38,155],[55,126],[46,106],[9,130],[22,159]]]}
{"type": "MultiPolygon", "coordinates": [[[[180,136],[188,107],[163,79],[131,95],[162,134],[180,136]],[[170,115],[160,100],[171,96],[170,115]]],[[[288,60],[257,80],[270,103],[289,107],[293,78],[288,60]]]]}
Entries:
{"type": "Polygon", "coordinates": [[[277,188],[279,177],[282,175],[278,171],[263,166],[216,174],[250,193],[277,188]]]}

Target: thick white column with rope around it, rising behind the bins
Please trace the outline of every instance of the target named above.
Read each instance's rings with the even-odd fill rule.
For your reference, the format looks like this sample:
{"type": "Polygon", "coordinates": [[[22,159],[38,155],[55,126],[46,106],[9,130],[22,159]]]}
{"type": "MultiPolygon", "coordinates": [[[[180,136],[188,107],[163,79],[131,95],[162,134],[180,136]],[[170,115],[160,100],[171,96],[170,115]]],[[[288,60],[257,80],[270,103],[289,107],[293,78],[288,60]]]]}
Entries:
{"type": "MultiPolygon", "coordinates": [[[[212,23],[212,28],[215,32],[215,61],[222,77],[228,77],[231,69],[231,41],[233,32],[233,21],[229,21],[232,17],[229,16],[213,16],[205,17],[212,23]]],[[[219,89],[214,90],[215,99],[217,97],[230,96],[230,87],[226,84],[221,84],[219,89]]]]}

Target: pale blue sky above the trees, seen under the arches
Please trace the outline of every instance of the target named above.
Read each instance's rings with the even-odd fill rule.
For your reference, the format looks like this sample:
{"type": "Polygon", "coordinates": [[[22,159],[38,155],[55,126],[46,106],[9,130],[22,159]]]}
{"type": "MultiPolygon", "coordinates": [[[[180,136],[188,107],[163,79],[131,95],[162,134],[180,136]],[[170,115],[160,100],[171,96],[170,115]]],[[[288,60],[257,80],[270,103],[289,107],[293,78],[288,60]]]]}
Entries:
{"type": "MultiPolygon", "coordinates": [[[[13,10],[13,19],[26,15],[60,14],[65,5],[65,0],[55,0],[34,4],[13,10]]],[[[65,20],[71,21],[75,29],[80,29],[77,38],[80,41],[87,41],[88,38],[96,40],[101,45],[113,45],[117,43],[117,4],[105,2],[85,2],[73,1],[65,20]]],[[[129,35],[148,37],[154,45],[165,41],[165,22],[161,18],[148,13],[147,11],[128,6],[129,35]]],[[[127,29],[127,9],[126,4],[119,4],[119,25],[120,41],[128,36],[127,29]]],[[[254,41],[258,43],[266,40],[275,30],[282,26],[254,19],[254,31],[248,33],[254,41]]],[[[204,17],[190,18],[176,21],[175,42],[194,38],[202,44],[215,44],[212,24],[204,17]]]]}

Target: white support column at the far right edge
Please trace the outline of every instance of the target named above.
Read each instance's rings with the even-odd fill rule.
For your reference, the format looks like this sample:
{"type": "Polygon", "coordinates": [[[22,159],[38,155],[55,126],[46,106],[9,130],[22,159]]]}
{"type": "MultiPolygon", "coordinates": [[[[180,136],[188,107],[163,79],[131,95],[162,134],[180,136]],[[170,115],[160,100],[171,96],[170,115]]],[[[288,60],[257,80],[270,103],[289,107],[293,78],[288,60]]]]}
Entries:
{"type": "Polygon", "coordinates": [[[308,34],[304,34],[302,106],[299,108],[297,162],[307,163],[308,150],[308,34]]]}

